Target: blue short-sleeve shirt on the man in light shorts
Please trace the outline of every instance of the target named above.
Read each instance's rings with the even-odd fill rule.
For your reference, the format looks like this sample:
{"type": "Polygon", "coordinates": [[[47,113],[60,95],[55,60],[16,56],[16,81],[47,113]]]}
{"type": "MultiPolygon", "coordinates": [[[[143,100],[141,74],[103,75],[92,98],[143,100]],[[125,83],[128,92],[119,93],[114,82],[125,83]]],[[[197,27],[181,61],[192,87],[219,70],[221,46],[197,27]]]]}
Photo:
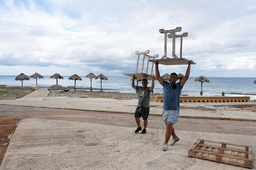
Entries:
{"type": "Polygon", "coordinates": [[[179,112],[179,94],[181,92],[181,82],[170,84],[163,81],[163,108],[178,110],[179,112]]]}

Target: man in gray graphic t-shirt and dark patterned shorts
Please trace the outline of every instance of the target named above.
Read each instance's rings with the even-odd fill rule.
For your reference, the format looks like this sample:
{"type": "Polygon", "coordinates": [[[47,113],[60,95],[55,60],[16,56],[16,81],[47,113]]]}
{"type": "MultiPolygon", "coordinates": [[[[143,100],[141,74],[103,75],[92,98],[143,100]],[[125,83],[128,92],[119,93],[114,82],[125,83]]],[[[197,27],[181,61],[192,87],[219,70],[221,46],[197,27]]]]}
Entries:
{"type": "Polygon", "coordinates": [[[150,92],[154,89],[155,87],[155,80],[156,77],[153,77],[152,79],[152,85],[151,87],[147,87],[147,79],[142,79],[142,87],[141,86],[135,86],[134,85],[134,80],[135,78],[133,77],[132,82],[131,82],[131,87],[134,88],[135,90],[138,90],[139,92],[139,100],[138,100],[138,107],[135,110],[135,121],[137,123],[138,128],[134,131],[135,133],[138,133],[141,128],[140,120],[139,118],[143,118],[144,121],[144,128],[142,130],[142,134],[147,133],[146,128],[147,128],[147,118],[149,116],[149,96],[150,92]]]}

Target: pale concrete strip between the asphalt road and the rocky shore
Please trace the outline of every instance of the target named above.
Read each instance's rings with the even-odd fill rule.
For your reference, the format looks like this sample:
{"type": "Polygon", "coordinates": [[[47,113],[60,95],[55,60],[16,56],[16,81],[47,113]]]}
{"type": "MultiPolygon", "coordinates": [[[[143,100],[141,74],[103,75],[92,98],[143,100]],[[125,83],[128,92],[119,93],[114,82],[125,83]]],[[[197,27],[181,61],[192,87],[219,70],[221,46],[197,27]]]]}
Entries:
{"type": "MultiPolygon", "coordinates": [[[[138,100],[115,100],[107,98],[69,98],[46,97],[47,88],[40,88],[20,99],[0,100],[0,104],[28,107],[76,109],[84,111],[130,113],[133,114],[138,100]]],[[[180,117],[184,118],[210,118],[210,119],[234,119],[256,121],[255,112],[219,111],[213,109],[200,110],[198,107],[205,105],[229,106],[229,105],[256,105],[256,102],[184,102],[180,103],[180,117]],[[182,108],[183,107],[183,108],[182,108]]],[[[162,102],[150,102],[150,114],[162,115],[162,102]]]]}

